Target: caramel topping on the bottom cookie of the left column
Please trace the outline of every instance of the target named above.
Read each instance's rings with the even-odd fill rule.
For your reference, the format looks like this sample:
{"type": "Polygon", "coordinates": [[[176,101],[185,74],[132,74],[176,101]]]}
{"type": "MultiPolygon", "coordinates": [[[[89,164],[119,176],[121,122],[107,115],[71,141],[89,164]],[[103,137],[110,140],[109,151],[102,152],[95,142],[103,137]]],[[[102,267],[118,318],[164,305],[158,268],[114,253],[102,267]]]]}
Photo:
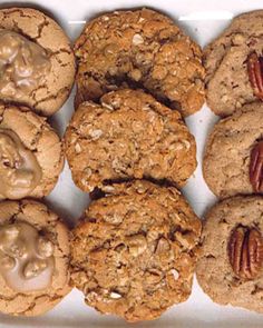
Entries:
{"type": "Polygon", "coordinates": [[[53,264],[52,242],[39,236],[31,225],[16,222],[0,227],[0,274],[10,288],[18,292],[48,288],[53,264]]]}

